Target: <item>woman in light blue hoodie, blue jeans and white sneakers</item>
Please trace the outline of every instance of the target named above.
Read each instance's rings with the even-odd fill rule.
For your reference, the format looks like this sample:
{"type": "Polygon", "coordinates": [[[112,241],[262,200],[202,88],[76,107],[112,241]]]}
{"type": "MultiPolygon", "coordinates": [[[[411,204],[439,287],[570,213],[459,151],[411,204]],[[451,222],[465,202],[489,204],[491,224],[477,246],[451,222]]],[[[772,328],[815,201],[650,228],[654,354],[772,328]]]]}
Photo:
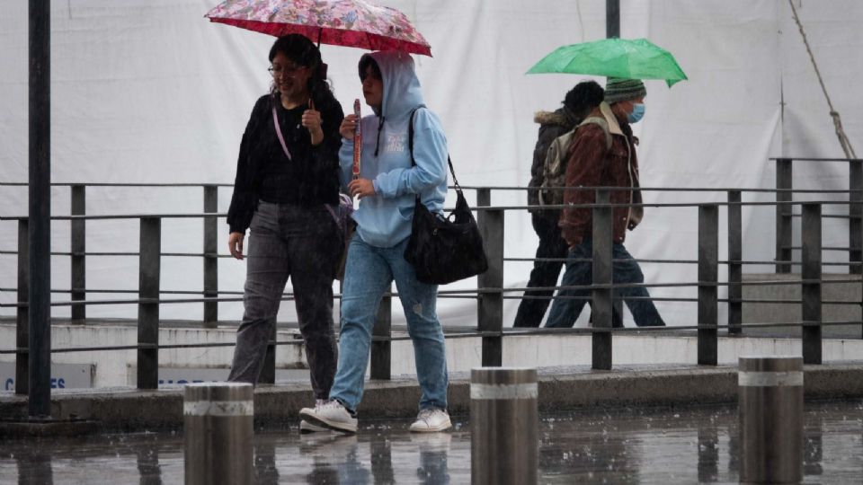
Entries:
{"type": "Polygon", "coordinates": [[[440,213],[447,194],[447,140],[440,120],[425,108],[414,59],[404,52],[374,52],[360,58],[362,93],[373,115],[348,115],[340,128],[343,186],[360,198],[357,223],[345,267],[339,364],[330,401],[300,410],[303,419],[356,432],[356,410],[369,362],[371,329],[378,304],[395,280],[414,342],[416,374],[422,390],[420,413],[411,431],[449,428],[447,361],[443,331],[435,311],[438,287],[416,279],[405,260],[414,198],[440,213]],[[408,125],[414,123],[414,162],[408,125]],[[362,124],[360,177],[351,180],[353,134],[362,124]]]}

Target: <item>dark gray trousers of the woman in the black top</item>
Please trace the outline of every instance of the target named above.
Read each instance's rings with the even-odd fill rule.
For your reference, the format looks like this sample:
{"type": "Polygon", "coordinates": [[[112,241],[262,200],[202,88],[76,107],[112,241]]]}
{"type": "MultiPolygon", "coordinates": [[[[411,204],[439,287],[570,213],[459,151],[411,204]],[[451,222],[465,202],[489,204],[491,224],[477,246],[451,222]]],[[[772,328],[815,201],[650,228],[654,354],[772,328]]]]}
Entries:
{"type": "Polygon", "coordinates": [[[338,362],[333,280],[341,251],[341,231],[326,207],[259,203],[248,241],[245,313],[228,381],[257,383],[290,278],[312,389],[317,399],[329,396],[338,362]]]}

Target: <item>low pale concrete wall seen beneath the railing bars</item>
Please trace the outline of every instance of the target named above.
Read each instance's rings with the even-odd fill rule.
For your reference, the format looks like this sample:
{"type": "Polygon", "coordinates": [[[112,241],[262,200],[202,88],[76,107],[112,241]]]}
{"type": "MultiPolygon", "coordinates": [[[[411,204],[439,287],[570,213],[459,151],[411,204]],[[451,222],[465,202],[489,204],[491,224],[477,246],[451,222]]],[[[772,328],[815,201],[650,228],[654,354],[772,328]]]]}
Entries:
{"type": "MultiPolygon", "coordinates": [[[[14,325],[0,325],[0,341],[14,341],[14,325]]],[[[294,340],[296,331],[279,331],[278,340],[294,340]]],[[[134,345],[134,327],[55,325],[52,332],[54,348],[134,345]]],[[[216,330],[163,329],[159,341],[167,343],[234,342],[233,328],[216,330]]],[[[479,338],[458,338],[447,341],[447,365],[450,373],[466,372],[481,366],[482,344],[479,338]]],[[[159,364],[165,375],[176,375],[177,369],[188,368],[188,380],[219,379],[213,369],[227,376],[233,347],[166,349],[159,353],[159,364]],[[200,370],[195,374],[196,370],[200,370]]],[[[392,345],[393,375],[415,375],[414,348],[410,340],[396,340],[392,345]]],[[[801,355],[800,340],[780,338],[720,338],[719,363],[735,364],[743,355],[801,355]]],[[[694,365],[697,362],[698,341],[694,332],[640,332],[614,336],[612,349],[615,366],[694,365]]],[[[63,352],[54,354],[55,363],[93,364],[93,387],[135,385],[134,350],[63,352]]],[[[863,340],[824,340],[824,361],[863,360],[863,340]]],[[[0,356],[0,361],[13,362],[12,355],[0,356]]],[[[533,335],[508,337],[503,340],[504,366],[590,366],[591,337],[589,335],[533,335]]],[[[302,372],[290,369],[306,367],[301,345],[282,345],[276,352],[277,381],[306,382],[302,372]]],[[[160,373],[161,376],[161,373],[160,373]]],[[[221,377],[224,378],[224,377],[221,377]]]]}

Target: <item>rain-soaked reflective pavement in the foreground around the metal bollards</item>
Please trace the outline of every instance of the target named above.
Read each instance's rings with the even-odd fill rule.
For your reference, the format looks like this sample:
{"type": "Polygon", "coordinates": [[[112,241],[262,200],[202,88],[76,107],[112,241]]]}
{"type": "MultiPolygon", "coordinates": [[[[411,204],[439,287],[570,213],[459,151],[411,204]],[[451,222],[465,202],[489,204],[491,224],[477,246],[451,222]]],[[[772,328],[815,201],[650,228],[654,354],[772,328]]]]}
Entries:
{"type": "MultiPolygon", "coordinates": [[[[466,417],[449,433],[360,416],[357,436],[256,430],[258,483],[469,483],[466,417]]],[[[736,483],[735,407],[544,414],[540,483],[736,483]]],[[[863,481],[863,401],[807,402],[805,483],[863,481]]],[[[182,483],[182,431],[4,440],[0,483],[182,483]]]]}

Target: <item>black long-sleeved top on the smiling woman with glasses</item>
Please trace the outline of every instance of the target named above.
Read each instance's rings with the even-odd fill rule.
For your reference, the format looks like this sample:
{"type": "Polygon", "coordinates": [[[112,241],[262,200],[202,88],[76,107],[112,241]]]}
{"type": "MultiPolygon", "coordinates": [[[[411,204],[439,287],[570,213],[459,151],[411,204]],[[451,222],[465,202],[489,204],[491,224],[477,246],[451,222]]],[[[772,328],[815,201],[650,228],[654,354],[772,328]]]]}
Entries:
{"type": "MultiPolygon", "coordinates": [[[[316,106],[320,103],[316,102],[316,106]]],[[[303,207],[338,204],[342,106],[332,101],[318,109],[321,110],[324,141],[313,146],[308,130],[300,125],[306,107],[285,110],[278,94],[263,95],[254,103],[240,143],[234,195],[227,209],[230,232],[245,232],[258,200],[303,207]],[[273,104],[291,160],[276,135],[273,104]]]]}

